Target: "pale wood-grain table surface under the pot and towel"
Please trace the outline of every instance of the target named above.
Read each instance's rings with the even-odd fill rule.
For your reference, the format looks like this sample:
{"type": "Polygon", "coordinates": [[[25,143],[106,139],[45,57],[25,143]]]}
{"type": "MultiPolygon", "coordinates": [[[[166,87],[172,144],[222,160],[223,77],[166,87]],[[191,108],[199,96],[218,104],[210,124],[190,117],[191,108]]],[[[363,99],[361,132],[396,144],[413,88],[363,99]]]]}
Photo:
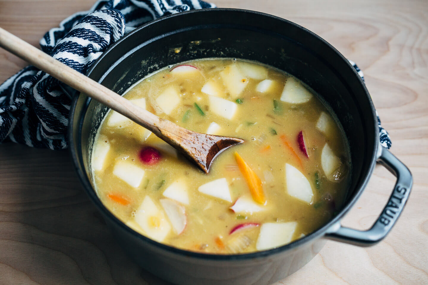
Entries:
{"type": "MultiPolygon", "coordinates": [[[[279,284],[428,284],[428,4],[426,0],[217,0],[277,15],[329,41],[364,71],[392,138],[412,171],[410,199],[392,232],[374,247],[328,241],[279,284]]],[[[91,0],[0,0],[0,26],[37,45],[49,28],[91,0]]],[[[0,82],[25,63],[0,50],[0,82]]],[[[371,226],[395,178],[377,166],[343,220],[371,226]]],[[[0,284],[150,284],[113,240],[74,173],[67,151],[0,145],[0,284]]]]}

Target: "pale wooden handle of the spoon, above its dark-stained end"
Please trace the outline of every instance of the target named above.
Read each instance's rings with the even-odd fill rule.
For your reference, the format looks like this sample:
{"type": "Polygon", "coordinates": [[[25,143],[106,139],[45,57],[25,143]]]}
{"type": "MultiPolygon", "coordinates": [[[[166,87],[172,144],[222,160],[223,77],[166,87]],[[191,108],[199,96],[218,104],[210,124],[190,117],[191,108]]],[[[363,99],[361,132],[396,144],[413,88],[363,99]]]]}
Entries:
{"type": "Polygon", "coordinates": [[[0,46],[21,59],[30,62],[32,65],[64,82],[68,86],[88,95],[147,129],[152,130],[155,134],[159,134],[159,129],[167,125],[163,123],[162,125],[165,126],[160,126],[161,121],[163,122],[164,120],[161,120],[158,116],[135,106],[119,94],[95,82],[82,73],[75,71],[62,62],[59,62],[42,52],[42,50],[39,50],[2,28],[0,28],[0,46]]]}

